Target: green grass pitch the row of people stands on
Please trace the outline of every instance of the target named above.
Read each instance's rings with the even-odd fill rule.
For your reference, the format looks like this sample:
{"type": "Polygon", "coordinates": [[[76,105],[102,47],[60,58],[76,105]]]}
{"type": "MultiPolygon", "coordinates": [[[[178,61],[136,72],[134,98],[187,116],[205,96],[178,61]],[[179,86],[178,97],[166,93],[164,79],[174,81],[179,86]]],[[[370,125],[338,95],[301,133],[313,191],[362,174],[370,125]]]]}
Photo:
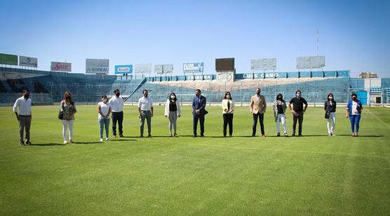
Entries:
{"type": "MultiPolygon", "coordinates": [[[[304,137],[276,137],[271,109],[268,137],[250,137],[248,107],[236,107],[224,138],[220,107],[208,111],[206,137],[191,137],[190,107],[180,137],[168,137],[155,107],[154,137],[139,138],[136,107],[125,107],[125,137],[100,143],[96,107],[79,106],[65,146],[58,107],[33,107],[33,145],[20,147],[15,114],[1,107],[0,215],[390,214],[390,109],[365,108],[360,137],[342,107],[335,137],[320,108],[305,114],[304,137]]],[[[290,114],[287,124],[291,134],[290,114]]]]}

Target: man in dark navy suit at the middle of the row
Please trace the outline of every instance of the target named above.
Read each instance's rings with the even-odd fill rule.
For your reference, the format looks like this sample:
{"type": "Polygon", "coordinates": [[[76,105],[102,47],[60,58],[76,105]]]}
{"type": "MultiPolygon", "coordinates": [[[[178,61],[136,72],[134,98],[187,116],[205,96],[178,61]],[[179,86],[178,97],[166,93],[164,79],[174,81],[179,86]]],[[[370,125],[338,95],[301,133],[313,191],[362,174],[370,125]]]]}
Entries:
{"type": "Polygon", "coordinates": [[[201,123],[201,137],[204,137],[204,123],[205,123],[205,115],[207,111],[206,107],[206,97],[201,95],[201,90],[195,90],[195,97],[192,100],[192,115],[194,116],[194,135],[192,137],[196,137],[196,128],[198,127],[198,120],[201,123]]]}

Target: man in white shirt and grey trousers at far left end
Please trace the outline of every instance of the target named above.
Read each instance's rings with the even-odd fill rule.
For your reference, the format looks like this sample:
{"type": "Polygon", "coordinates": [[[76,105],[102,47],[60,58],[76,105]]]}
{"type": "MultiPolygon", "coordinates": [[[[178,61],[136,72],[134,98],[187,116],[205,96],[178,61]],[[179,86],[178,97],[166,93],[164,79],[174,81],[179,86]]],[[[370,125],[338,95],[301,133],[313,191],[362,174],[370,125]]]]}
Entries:
{"type": "Polygon", "coordinates": [[[20,146],[25,146],[23,142],[23,131],[26,130],[26,144],[31,145],[29,139],[29,128],[31,126],[32,114],[31,114],[31,99],[29,99],[29,91],[23,90],[22,97],[19,97],[15,104],[13,104],[13,112],[15,112],[16,119],[19,122],[19,138],[20,146]]]}

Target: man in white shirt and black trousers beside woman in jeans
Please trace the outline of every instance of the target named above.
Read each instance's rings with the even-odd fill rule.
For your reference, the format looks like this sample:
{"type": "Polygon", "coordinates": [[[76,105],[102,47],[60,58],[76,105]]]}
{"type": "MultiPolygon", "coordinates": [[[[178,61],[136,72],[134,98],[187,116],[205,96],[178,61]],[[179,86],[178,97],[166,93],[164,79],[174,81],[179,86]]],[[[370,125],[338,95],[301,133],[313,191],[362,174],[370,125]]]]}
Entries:
{"type": "Polygon", "coordinates": [[[119,89],[114,90],[114,94],[114,97],[109,100],[112,109],[112,135],[116,137],[116,121],[118,121],[119,137],[123,137],[123,99],[119,97],[121,95],[119,89]]]}

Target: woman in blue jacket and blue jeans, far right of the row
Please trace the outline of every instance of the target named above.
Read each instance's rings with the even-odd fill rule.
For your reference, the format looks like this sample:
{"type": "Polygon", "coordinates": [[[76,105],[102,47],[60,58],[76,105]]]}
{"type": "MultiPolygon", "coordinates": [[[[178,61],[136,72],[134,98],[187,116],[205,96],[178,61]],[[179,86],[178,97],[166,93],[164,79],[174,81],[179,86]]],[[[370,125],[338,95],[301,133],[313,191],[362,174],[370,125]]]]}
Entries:
{"type": "Polygon", "coordinates": [[[359,122],[361,121],[361,112],[363,111],[363,105],[358,100],[358,95],[352,93],[351,100],[348,101],[347,108],[345,110],[345,116],[351,121],[352,136],[358,137],[359,122]]]}

